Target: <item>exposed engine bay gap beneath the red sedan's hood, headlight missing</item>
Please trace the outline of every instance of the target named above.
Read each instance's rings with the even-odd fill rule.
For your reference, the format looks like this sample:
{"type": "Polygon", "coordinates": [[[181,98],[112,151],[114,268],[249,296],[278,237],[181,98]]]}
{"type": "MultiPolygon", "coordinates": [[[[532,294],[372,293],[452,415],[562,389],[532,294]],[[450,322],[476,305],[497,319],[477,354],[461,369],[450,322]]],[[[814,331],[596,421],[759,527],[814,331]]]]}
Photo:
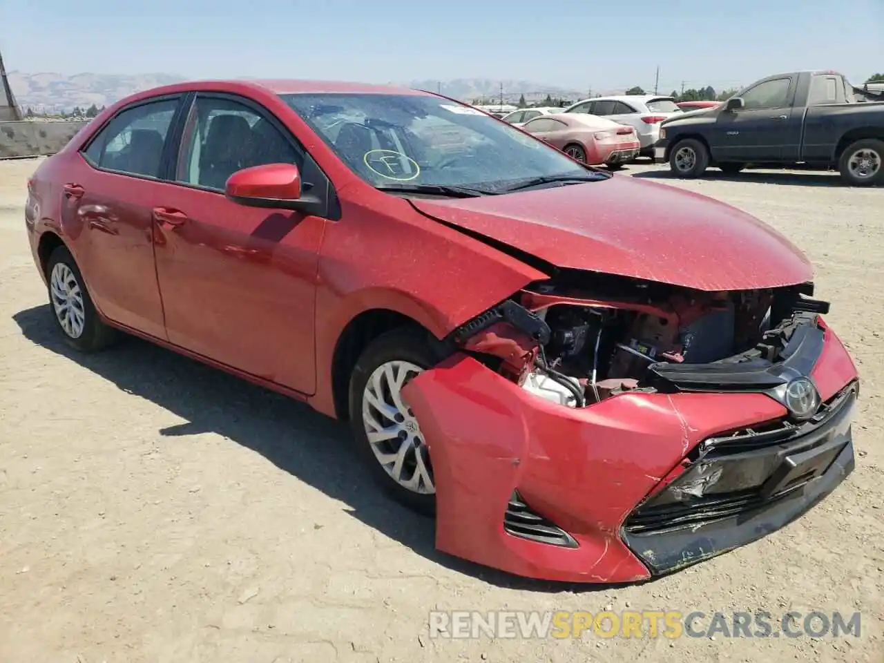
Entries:
{"type": "Polygon", "coordinates": [[[807,296],[812,284],[705,292],[616,277],[587,287],[587,280],[531,284],[451,339],[538,397],[583,408],[629,391],[727,388],[714,379],[783,361],[796,328],[817,328],[817,314],[828,311],[807,296]],[[717,377],[702,377],[704,366],[720,369],[717,377]],[[690,385],[672,377],[678,367],[692,371],[690,385]]]}

